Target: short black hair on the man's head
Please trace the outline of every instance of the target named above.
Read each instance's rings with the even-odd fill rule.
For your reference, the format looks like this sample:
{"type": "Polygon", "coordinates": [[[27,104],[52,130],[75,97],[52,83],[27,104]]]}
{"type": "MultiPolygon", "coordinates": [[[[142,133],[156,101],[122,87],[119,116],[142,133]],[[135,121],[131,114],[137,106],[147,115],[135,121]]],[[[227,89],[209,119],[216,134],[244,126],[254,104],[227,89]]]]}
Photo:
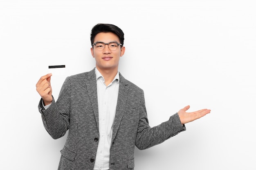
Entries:
{"type": "Polygon", "coordinates": [[[97,24],[92,28],[91,32],[91,44],[94,42],[94,38],[98,33],[114,33],[119,38],[121,44],[124,45],[124,32],[113,24],[97,24]]]}

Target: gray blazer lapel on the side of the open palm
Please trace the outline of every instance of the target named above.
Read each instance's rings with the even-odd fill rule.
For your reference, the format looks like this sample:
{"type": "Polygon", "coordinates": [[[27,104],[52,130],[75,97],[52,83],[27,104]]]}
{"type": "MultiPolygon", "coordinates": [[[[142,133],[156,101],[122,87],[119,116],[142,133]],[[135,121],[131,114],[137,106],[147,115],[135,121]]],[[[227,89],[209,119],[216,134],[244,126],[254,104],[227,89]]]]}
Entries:
{"type": "Polygon", "coordinates": [[[115,113],[115,120],[113,125],[113,133],[112,133],[112,140],[111,144],[113,143],[115,136],[117,134],[117,130],[120,126],[121,119],[124,115],[125,106],[126,106],[126,100],[127,100],[127,80],[119,73],[119,91],[118,91],[118,97],[117,97],[117,107],[116,107],[116,113],[115,113]]]}

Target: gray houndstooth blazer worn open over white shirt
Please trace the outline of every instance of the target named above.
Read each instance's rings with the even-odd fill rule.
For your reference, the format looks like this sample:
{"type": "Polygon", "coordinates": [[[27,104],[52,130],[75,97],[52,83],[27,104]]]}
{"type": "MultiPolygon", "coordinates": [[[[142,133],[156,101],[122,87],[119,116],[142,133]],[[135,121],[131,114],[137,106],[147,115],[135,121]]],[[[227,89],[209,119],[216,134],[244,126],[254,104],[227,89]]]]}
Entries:
{"type": "MultiPolygon", "coordinates": [[[[119,74],[119,94],[110,147],[110,170],[133,170],[134,149],[150,148],[186,130],[172,115],[150,128],[144,92],[119,74]]],[[[95,68],[65,79],[58,100],[46,110],[39,102],[45,129],[52,138],[67,140],[58,170],[93,170],[99,143],[99,112],[95,68]]]]}

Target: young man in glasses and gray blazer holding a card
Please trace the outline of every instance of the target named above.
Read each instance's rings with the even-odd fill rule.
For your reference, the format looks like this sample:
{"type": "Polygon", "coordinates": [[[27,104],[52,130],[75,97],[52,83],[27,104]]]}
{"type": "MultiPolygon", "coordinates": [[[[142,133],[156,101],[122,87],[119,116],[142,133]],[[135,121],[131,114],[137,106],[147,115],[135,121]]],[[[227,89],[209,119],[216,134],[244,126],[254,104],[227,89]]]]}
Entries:
{"type": "Polygon", "coordinates": [[[187,113],[189,106],[151,128],[144,92],[118,71],[125,53],[124,33],[112,24],[97,24],[91,32],[96,67],[65,79],[58,100],[52,97],[52,74],[42,76],[36,90],[39,111],[54,139],[67,135],[58,170],[133,170],[134,149],[157,145],[186,130],[184,124],[211,110],[187,113]]]}

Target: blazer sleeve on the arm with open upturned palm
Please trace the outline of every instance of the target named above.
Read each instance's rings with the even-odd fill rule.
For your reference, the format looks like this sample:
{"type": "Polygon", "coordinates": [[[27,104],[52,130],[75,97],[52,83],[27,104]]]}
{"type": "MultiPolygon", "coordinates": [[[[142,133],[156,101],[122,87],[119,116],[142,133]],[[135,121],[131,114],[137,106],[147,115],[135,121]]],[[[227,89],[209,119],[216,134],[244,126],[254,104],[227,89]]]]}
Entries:
{"type": "Polygon", "coordinates": [[[161,144],[165,140],[186,130],[185,125],[181,124],[180,117],[177,113],[172,115],[168,121],[165,121],[162,124],[151,128],[148,124],[144,93],[142,94],[139,107],[139,125],[135,145],[140,150],[161,144]]]}

